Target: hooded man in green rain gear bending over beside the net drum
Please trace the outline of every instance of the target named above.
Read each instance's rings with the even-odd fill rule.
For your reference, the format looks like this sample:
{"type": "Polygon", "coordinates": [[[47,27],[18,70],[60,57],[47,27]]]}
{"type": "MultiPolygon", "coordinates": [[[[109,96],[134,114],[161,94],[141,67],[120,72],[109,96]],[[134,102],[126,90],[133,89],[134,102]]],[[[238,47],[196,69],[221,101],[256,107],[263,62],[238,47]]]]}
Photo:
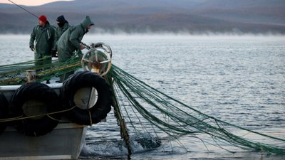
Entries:
{"type": "MultiPolygon", "coordinates": [[[[61,38],[59,38],[57,42],[59,62],[66,62],[74,55],[74,51],[77,51],[78,54],[82,55],[81,50],[85,47],[81,44],[81,40],[93,25],[94,23],[90,20],[90,17],[86,16],[80,24],[71,26],[61,35],[61,38]]],[[[66,80],[69,75],[72,74],[73,72],[62,75],[57,82],[63,82],[63,80],[66,80]]]]}

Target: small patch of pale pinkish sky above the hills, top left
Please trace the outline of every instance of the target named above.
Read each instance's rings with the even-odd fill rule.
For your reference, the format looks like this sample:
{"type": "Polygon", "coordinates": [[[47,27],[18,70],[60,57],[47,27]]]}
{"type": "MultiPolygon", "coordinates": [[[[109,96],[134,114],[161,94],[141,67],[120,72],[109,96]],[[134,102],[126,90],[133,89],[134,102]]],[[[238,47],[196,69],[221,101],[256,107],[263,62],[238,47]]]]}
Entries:
{"type": "MultiPolygon", "coordinates": [[[[10,0],[13,1],[15,4],[18,5],[25,5],[25,6],[38,6],[42,4],[48,4],[53,1],[58,1],[58,0],[10,0]]],[[[0,0],[0,4],[13,4],[9,0],[0,0]]],[[[61,1],[71,1],[71,0],[61,0],[61,1]]]]}

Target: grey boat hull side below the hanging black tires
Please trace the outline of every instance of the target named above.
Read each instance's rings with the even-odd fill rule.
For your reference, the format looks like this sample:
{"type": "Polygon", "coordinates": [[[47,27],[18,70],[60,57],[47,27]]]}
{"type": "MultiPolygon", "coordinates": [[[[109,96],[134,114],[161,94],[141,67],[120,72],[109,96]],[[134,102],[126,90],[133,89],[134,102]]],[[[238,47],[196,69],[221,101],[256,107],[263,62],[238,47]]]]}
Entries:
{"type": "Polygon", "coordinates": [[[0,160],[3,159],[78,159],[85,144],[86,127],[60,123],[52,132],[28,137],[7,127],[0,134],[0,160]]]}

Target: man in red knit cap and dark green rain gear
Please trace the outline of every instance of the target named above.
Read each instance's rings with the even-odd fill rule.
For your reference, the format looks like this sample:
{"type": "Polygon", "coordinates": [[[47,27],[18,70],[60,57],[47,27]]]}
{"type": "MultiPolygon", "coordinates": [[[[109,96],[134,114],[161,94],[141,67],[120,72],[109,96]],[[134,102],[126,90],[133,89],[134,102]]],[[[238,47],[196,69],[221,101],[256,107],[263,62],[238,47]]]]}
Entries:
{"type": "MultiPolygon", "coordinates": [[[[34,52],[36,71],[43,69],[42,65],[51,64],[51,50],[54,47],[54,28],[46,16],[38,17],[38,25],[33,28],[29,46],[34,52]]],[[[50,83],[46,80],[46,83],[50,83]]]]}

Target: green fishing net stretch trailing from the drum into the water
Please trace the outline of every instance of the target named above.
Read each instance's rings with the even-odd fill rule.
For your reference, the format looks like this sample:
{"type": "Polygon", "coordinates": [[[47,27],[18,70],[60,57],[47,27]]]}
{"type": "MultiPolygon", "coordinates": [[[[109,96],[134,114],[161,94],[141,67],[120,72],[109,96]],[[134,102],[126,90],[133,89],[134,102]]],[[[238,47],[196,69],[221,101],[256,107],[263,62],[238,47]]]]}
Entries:
{"type": "Polygon", "coordinates": [[[164,132],[178,144],[181,144],[178,140],[181,135],[190,134],[191,137],[199,139],[206,148],[207,144],[212,144],[228,150],[223,146],[230,145],[242,149],[285,154],[285,139],[254,132],[203,114],[145,84],[115,65],[112,66],[108,77],[115,93],[115,105],[118,105],[120,109],[118,112],[123,115],[122,120],[128,127],[128,134],[152,132],[157,135],[164,132]],[[150,126],[153,131],[149,130],[150,126]],[[209,135],[212,137],[212,142],[199,137],[200,134],[209,135]]]}

